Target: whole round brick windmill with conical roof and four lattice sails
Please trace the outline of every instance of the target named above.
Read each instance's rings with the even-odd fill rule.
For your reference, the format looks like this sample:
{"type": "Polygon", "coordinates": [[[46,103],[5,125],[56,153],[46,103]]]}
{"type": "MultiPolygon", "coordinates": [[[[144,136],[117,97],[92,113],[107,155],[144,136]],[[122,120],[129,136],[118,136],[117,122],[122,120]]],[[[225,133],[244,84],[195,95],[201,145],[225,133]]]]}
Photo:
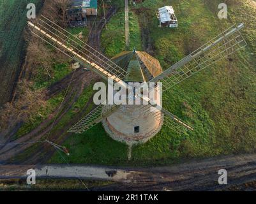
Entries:
{"type": "MultiPolygon", "coordinates": [[[[127,82],[130,81],[130,79],[127,79],[129,78],[129,65],[126,67],[127,69],[122,68],[116,59],[130,57],[128,64],[130,62],[137,63],[137,68],[139,67],[143,73],[143,80],[148,83],[162,82],[163,92],[246,46],[246,41],[240,32],[244,25],[233,25],[162,72],[156,59],[154,61],[154,58],[150,55],[136,50],[117,55],[110,60],[47,17],[41,16],[39,20],[28,22],[28,25],[31,32],[41,40],[91,69],[105,80],[111,78],[114,83],[123,87],[128,87],[127,82]],[[146,63],[148,60],[156,63],[146,63]]],[[[134,144],[149,140],[160,131],[162,125],[179,134],[193,131],[192,126],[160,107],[151,99],[145,98],[140,93],[137,93],[136,97],[148,101],[149,105],[130,106],[130,108],[122,105],[98,105],[93,111],[80,119],[68,132],[83,133],[99,122],[103,122],[105,130],[115,140],[134,144]],[[157,110],[156,112],[151,112],[152,106],[157,110]],[[122,115],[125,117],[122,117],[122,115]]]]}

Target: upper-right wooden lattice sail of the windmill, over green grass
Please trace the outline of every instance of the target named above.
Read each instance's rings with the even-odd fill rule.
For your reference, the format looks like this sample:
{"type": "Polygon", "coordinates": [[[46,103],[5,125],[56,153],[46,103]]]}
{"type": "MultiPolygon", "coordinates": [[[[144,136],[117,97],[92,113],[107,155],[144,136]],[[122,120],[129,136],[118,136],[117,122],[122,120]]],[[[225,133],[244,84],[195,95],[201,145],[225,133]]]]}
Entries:
{"type": "Polygon", "coordinates": [[[195,50],[192,54],[165,70],[161,75],[158,75],[158,77],[153,78],[150,82],[161,81],[163,91],[167,91],[174,85],[183,82],[186,78],[192,77],[192,75],[202,69],[241,50],[246,46],[246,41],[240,33],[243,27],[243,24],[237,27],[235,25],[230,27],[213,38],[213,40],[195,50]]]}

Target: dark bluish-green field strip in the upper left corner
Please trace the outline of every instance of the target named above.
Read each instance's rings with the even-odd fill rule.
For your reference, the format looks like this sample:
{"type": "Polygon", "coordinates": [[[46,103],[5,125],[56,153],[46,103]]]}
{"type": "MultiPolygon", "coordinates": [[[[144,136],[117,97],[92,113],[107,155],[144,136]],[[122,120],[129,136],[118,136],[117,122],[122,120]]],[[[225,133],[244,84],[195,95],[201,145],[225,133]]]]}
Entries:
{"type": "Polygon", "coordinates": [[[38,10],[39,0],[0,1],[0,80],[4,89],[0,89],[0,104],[11,98],[11,92],[19,77],[21,62],[26,54],[24,27],[26,26],[26,5],[35,3],[38,10]]]}

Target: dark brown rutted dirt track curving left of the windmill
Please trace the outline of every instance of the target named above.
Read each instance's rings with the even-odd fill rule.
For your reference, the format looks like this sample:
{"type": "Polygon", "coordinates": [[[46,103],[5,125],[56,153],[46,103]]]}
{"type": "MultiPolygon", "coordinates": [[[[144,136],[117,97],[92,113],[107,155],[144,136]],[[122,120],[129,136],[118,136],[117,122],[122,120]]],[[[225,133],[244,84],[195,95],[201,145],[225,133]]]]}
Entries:
{"type": "MultiPolygon", "coordinates": [[[[91,103],[91,101],[88,101],[87,105],[84,106],[84,108],[81,110],[80,113],[77,113],[77,117],[70,121],[68,125],[66,125],[63,129],[52,132],[52,122],[53,119],[56,119],[54,122],[54,125],[57,125],[62,117],[72,108],[72,105],[77,101],[80,94],[82,94],[82,91],[84,88],[91,84],[93,80],[100,80],[100,78],[92,73],[91,71],[84,71],[82,68],[75,71],[74,75],[71,73],[67,77],[63,78],[60,82],[57,82],[56,84],[52,85],[52,87],[49,87],[47,90],[47,96],[54,96],[60,91],[63,91],[68,87],[68,84],[70,83],[70,80],[72,79],[72,85],[70,86],[71,89],[68,92],[66,98],[64,99],[63,104],[57,109],[54,113],[52,113],[48,119],[41,122],[40,126],[38,126],[36,129],[28,133],[27,135],[22,136],[21,138],[13,141],[6,141],[6,145],[2,146],[0,148],[0,162],[1,163],[10,163],[10,159],[14,156],[17,156],[17,154],[20,154],[24,152],[27,148],[34,145],[34,143],[27,143],[31,141],[39,141],[45,139],[47,136],[49,137],[49,140],[55,143],[62,143],[64,139],[68,136],[66,131],[68,128],[73,126],[77,120],[79,120],[82,116],[84,116],[84,112],[87,108],[87,105],[91,103]],[[56,117],[57,116],[57,117],[56,117]],[[20,145],[17,145],[17,143],[22,143],[20,145]]],[[[36,152],[34,152],[31,157],[21,160],[21,163],[38,163],[46,161],[52,154],[54,149],[50,147],[47,143],[41,143],[40,149],[38,149],[36,152]],[[47,155],[41,156],[41,152],[47,152],[47,155]]],[[[17,162],[17,161],[14,161],[17,162]]],[[[12,163],[12,162],[11,162],[12,163]]]]}

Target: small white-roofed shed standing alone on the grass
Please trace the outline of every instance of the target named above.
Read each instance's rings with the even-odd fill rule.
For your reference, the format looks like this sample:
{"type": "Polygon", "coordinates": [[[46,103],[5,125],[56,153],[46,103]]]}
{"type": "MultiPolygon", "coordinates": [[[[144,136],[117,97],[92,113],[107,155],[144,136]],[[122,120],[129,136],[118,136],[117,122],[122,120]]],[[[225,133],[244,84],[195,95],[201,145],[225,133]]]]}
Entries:
{"type": "Polygon", "coordinates": [[[172,6],[163,6],[158,9],[160,27],[177,27],[178,22],[172,6]]]}

